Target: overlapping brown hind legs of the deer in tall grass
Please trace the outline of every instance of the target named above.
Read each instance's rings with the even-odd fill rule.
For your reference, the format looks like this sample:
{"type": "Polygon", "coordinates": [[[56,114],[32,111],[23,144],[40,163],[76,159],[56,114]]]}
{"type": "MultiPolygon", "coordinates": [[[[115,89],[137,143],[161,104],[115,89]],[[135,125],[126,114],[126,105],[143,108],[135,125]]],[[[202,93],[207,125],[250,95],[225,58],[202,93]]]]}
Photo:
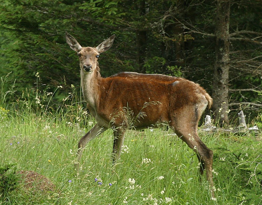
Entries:
{"type": "Polygon", "coordinates": [[[196,153],[198,160],[201,163],[199,172],[200,174],[203,174],[203,171],[206,170],[206,178],[211,187],[211,195],[214,197],[214,191],[212,188],[214,186],[212,177],[213,152],[198,137],[197,123],[193,125],[192,122],[182,122],[172,123],[171,121],[170,125],[178,137],[187,143],[187,145],[196,153]]]}

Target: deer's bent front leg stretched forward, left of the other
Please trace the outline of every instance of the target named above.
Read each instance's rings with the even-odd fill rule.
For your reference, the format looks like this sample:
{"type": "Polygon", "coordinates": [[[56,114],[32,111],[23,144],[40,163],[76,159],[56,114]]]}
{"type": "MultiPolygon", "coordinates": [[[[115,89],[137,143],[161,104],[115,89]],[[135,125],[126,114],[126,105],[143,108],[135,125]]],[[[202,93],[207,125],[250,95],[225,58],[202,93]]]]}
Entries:
{"type": "Polygon", "coordinates": [[[91,128],[91,130],[86,133],[78,142],[78,151],[77,151],[77,156],[78,156],[78,161],[77,163],[75,163],[75,168],[78,170],[79,168],[79,163],[80,163],[80,159],[83,153],[83,149],[86,145],[86,143],[89,142],[89,140],[99,136],[100,134],[102,134],[104,131],[106,131],[107,128],[103,128],[100,125],[96,124],[94,127],[91,128]]]}

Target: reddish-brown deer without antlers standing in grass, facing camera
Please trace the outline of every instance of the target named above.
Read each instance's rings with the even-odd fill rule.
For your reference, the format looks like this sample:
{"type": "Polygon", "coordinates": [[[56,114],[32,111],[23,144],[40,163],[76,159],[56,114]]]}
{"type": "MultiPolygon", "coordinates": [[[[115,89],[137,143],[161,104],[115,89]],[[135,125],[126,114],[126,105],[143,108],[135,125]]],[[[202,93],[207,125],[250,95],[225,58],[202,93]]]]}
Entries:
{"type": "Polygon", "coordinates": [[[199,84],[182,77],[162,74],[121,72],[101,77],[99,55],[111,48],[114,35],[97,47],[82,47],[70,34],[65,39],[77,52],[81,88],[87,108],[96,124],[78,143],[78,163],[83,148],[91,139],[113,129],[113,163],[119,158],[128,129],[146,129],[168,124],[193,151],[200,162],[199,173],[206,179],[214,197],[213,152],[200,140],[197,128],[201,115],[212,105],[212,98],[199,84]]]}

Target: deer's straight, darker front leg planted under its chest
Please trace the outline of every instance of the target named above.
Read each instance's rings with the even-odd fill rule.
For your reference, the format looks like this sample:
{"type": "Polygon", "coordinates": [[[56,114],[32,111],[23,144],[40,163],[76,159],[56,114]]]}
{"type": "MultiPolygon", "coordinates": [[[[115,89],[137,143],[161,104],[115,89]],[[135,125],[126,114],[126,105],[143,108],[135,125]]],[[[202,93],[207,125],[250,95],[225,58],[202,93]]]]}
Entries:
{"type": "Polygon", "coordinates": [[[114,131],[114,142],[113,142],[113,164],[120,157],[121,149],[124,144],[125,130],[122,128],[116,128],[114,131]]]}

